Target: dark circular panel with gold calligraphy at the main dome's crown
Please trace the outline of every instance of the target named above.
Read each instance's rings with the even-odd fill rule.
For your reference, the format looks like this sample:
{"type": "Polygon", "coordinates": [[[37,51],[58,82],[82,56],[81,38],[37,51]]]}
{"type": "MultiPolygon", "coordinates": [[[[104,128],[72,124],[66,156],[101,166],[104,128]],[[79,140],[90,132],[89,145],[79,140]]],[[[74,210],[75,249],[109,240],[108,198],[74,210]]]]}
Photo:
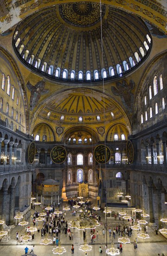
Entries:
{"type": "Polygon", "coordinates": [[[59,12],[63,20],[74,26],[90,27],[100,21],[100,11],[104,15],[105,7],[100,4],[79,2],[60,5],[59,12]]]}

